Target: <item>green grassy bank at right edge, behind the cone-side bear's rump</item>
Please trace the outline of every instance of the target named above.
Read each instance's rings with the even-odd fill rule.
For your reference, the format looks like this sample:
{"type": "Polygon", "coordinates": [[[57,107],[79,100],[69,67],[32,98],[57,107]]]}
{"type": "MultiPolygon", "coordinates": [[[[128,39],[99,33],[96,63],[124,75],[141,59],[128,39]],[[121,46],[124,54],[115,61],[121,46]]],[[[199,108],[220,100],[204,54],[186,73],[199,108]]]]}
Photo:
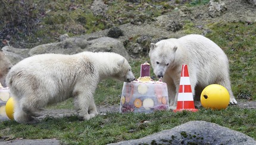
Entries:
{"type": "Polygon", "coordinates": [[[220,22],[209,25],[207,37],[220,46],[229,57],[230,80],[235,96],[256,99],[256,24],[220,22]],[[245,97],[242,97],[244,95],[245,97]]]}

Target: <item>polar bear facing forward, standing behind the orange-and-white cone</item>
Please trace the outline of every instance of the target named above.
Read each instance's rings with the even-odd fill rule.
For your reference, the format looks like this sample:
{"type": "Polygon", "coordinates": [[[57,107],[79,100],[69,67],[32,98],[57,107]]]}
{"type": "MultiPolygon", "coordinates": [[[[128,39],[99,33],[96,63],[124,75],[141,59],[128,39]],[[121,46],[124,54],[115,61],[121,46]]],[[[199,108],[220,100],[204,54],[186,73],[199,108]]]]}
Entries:
{"type": "Polygon", "coordinates": [[[170,108],[176,109],[182,65],[188,65],[192,94],[196,107],[201,106],[200,95],[206,86],[217,83],[230,95],[230,104],[237,104],[230,87],[229,60],[210,39],[190,34],[151,43],[149,57],[154,73],[167,83],[170,108]]]}

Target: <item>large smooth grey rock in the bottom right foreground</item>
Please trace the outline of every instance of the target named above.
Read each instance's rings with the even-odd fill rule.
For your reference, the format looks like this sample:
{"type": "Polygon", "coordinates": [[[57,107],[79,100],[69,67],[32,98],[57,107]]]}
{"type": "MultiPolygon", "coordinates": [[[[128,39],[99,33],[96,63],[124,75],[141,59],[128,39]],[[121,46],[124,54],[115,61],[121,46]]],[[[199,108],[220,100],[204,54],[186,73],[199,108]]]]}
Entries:
{"type": "Polygon", "coordinates": [[[206,121],[190,121],[137,140],[113,144],[256,144],[254,138],[206,121]]]}

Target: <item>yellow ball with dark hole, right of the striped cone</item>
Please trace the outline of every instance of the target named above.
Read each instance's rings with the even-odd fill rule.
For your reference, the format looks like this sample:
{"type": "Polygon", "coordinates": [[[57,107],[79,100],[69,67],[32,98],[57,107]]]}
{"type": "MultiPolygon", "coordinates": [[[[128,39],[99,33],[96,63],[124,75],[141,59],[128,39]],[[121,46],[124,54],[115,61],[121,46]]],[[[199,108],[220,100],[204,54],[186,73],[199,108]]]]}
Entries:
{"type": "Polygon", "coordinates": [[[229,105],[229,91],[224,86],[212,84],[204,88],[201,104],[204,108],[226,109],[229,105]]]}

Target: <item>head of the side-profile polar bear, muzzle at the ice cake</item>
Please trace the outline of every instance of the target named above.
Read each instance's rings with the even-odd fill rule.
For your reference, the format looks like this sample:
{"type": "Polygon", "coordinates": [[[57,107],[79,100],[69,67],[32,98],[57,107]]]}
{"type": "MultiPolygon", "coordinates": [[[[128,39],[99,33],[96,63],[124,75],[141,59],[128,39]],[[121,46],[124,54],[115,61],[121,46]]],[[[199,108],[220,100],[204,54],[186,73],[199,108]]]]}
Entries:
{"type": "Polygon", "coordinates": [[[115,79],[121,80],[123,82],[132,82],[133,80],[135,80],[135,76],[132,73],[132,67],[129,65],[124,57],[118,59],[116,63],[118,67],[117,73],[115,73],[114,76],[115,79]]]}

